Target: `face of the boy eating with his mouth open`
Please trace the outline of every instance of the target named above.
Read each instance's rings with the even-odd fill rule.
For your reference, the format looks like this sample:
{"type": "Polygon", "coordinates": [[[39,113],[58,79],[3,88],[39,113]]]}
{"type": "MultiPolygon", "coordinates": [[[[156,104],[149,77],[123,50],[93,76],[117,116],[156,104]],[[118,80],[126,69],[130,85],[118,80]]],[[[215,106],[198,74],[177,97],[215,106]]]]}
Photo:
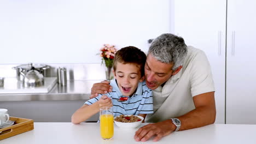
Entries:
{"type": "Polygon", "coordinates": [[[124,96],[131,96],[137,89],[138,83],[144,80],[144,76],[141,77],[140,70],[137,64],[117,62],[114,77],[117,79],[118,87],[124,96]]]}

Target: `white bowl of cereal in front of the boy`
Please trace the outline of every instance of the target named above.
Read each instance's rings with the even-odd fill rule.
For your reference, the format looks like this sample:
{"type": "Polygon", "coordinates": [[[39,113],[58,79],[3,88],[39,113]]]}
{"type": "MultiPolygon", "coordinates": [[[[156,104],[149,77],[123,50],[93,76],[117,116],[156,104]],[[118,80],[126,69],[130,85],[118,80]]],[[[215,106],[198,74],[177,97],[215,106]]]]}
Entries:
{"type": "Polygon", "coordinates": [[[135,115],[120,115],[114,117],[114,123],[120,128],[136,128],[142,121],[143,117],[135,115]]]}

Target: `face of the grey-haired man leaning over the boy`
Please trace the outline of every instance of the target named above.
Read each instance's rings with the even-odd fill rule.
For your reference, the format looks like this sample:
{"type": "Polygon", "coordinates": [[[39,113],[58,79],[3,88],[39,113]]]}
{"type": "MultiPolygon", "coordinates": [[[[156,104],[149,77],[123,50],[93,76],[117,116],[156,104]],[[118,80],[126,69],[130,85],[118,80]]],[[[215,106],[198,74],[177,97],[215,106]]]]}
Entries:
{"type": "Polygon", "coordinates": [[[173,74],[173,63],[162,63],[150,53],[145,64],[146,84],[150,89],[156,89],[166,82],[173,74]]]}

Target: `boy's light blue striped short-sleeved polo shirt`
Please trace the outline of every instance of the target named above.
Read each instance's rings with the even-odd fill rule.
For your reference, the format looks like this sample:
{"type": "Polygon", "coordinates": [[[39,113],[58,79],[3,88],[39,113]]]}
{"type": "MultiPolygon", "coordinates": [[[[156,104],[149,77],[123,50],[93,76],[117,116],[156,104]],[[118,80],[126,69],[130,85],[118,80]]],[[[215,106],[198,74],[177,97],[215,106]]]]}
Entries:
{"type": "MultiPolygon", "coordinates": [[[[112,98],[113,113],[114,117],[119,115],[138,115],[154,113],[153,111],[153,97],[152,90],[146,86],[146,82],[139,82],[137,91],[132,97],[128,97],[128,100],[119,102],[118,99],[124,97],[120,92],[115,79],[110,81],[110,85],[113,87],[112,92],[107,94],[108,97],[112,98]]],[[[91,105],[102,97],[99,94],[98,97],[92,98],[86,101],[84,104],[91,105]]]]}

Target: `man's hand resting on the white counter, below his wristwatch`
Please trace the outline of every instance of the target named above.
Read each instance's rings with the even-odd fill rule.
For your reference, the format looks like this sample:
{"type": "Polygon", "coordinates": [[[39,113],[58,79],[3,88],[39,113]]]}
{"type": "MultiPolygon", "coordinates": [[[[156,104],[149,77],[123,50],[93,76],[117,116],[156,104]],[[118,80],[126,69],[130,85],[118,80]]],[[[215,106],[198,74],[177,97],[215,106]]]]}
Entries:
{"type": "Polygon", "coordinates": [[[155,136],[153,141],[159,141],[162,137],[169,135],[176,129],[171,119],[159,123],[147,124],[139,128],[134,136],[136,141],[147,141],[155,136]]]}

